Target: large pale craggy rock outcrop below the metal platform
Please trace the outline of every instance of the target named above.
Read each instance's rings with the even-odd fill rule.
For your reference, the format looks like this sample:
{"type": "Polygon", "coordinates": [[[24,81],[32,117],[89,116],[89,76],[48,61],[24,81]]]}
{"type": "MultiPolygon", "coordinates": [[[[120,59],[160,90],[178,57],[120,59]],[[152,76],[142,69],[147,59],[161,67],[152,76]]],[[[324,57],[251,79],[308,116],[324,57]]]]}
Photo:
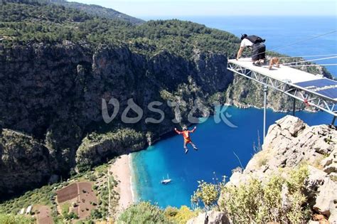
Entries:
{"type": "Polygon", "coordinates": [[[283,117],[269,127],[262,150],[253,156],[244,171],[235,171],[227,184],[237,186],[251,177],[259,178],[263,183],[274,174],[284,176],[285,171],[307,164],[308,203],[315,213],[330,222],[336,221],[336,139],[335,127],[309,127],[297,117],[283,117]]]}

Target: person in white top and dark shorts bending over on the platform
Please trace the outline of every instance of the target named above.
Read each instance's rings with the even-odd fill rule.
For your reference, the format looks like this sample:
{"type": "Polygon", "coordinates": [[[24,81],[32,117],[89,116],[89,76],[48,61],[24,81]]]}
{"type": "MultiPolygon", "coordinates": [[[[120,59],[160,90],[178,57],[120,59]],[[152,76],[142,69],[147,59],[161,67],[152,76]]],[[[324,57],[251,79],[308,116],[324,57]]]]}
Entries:
{"type": "Polygon", "coordinates": [[[247,34],[242,34],[240,48],[237,51],[236,60],[239,60],[242,51],[247,48],[252,48],[252,62],[253,65],[260,65],[260,63],[264,62],[266,58],[266,46],[263,44],[264,41],[259,36],[247,36],[247,34]]]}

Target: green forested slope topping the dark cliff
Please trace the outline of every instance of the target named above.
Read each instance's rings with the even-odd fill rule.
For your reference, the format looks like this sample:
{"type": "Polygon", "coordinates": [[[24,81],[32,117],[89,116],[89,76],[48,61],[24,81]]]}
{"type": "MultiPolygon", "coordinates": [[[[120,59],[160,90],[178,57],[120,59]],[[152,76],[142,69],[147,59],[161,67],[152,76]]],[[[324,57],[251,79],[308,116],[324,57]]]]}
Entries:
{"type": "Polygon", "coordinates": [[[55,4],[8,3],[0,7],[0,35],[5,44],[64,40],[95,46],[123,43],[144,54],[167,49],[188,57],[196,48],[233,53],[237,48],[235,43],[238,43],[230,33],[178,20],[149,21],[136,26],[55,4]]]}

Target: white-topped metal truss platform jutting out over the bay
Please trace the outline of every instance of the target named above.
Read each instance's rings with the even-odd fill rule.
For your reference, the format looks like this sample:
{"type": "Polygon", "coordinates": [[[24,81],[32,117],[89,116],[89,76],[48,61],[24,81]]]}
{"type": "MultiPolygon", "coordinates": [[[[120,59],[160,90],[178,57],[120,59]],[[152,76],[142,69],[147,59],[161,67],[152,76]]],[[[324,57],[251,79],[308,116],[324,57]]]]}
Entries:
{"type": "Polygon", "coordinates": [[[264,85],[264,110],[267,87],[271,87],[293,97],[294,109],[296,100],[299,100],[306,105],[333,115],[333,123],[335,122],[337,117],[337,106],[335,108],[337,104],[337,82],[335,80],[283,65],[269,70],[268,65],[253,65],[250,58],[228,60],[228,70],[264,85]]]}

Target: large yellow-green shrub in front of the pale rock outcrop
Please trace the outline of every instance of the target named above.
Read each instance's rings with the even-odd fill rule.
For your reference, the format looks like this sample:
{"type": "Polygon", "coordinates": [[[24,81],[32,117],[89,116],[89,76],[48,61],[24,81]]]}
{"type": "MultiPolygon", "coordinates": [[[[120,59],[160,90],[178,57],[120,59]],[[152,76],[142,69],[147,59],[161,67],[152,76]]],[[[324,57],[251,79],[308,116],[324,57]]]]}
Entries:
{"type": "Polygon", "coordinates": [[[225,186],[220,210],[235,223],[306,223],[310,217],[304,183],[306,166],[290,171],[288,178],[272,176],[264,185],[252,178],[239,186],[225,186]]]}

